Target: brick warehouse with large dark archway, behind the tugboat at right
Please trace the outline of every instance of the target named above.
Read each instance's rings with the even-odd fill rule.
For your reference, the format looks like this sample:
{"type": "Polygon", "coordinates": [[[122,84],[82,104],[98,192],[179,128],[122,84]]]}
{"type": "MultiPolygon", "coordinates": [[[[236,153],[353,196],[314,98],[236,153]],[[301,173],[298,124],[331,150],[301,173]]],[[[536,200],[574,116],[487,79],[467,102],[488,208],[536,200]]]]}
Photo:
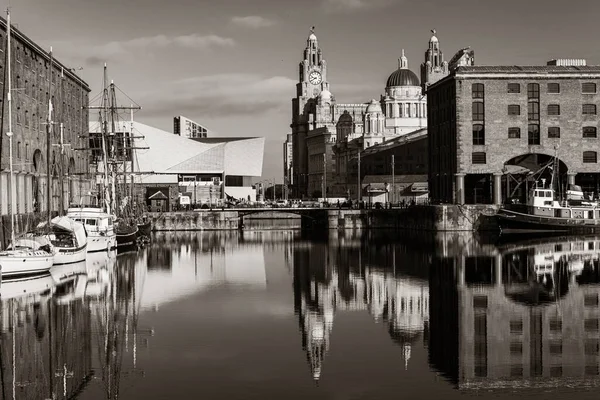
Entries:
{"type": "Polygon", "coordinates": [[[524,201],[531,174],[555,155],[562,187],[598,193],[599,85],[600,66],[584,60],[459,67],[434,83],[427,91],[430,199],[524,201]]]}

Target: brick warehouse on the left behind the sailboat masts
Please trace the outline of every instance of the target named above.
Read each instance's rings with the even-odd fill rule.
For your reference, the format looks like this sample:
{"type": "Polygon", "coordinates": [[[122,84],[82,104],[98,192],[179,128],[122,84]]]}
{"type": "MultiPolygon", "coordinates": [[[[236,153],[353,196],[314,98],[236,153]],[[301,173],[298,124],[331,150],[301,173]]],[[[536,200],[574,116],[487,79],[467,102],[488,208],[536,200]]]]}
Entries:
{"type": "MultiPolygon", "coordinates": [[[[13,168],[15,171],[17,202],[14,209],[17,214],[43,212],[46,207],[46,120],[48,116],[48,98],[53,103],[52,120],[54,122],[51,143],[52,167],[54,176],[51,186],[52,209],[57,210],[60,199],[60,124],[64,127],[64,143],[70,146],[64,149],[64,201],[79,201],[79,193],[89,191],[90,180],[85,173],[88,166],[88,154],[76,151],[87,147],[88,84],[73,73],[73,70],[53,60],[50,55],[31,39],[12,27],[11,36],[11,75],[13,101],[13,168]],[[50,73],[52,85],[49,90],[50,73]],[[48,93],[50,91],[50,94],[48,93]]],[[[0,214],[9,214],[9,141],[8,101],[6,67],[6,21],[0,18],[0,101],[3,110],[0,114],[0,214]]],[[[4,218],[3,218],[4,220],[4,218]]]]}

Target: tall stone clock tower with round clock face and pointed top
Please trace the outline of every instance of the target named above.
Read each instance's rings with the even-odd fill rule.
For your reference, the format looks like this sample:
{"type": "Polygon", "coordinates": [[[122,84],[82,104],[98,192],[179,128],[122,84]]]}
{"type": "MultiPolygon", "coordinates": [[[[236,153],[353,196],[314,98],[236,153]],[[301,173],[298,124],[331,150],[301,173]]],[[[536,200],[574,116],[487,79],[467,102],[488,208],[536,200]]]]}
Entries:
{"type": "Polygon", "coordinates": [[[319,47],[314,32],[306,40],[303,60],[298,65],[298,83],[296,97],[292,99],[292,191],[294,197],[300,198],[308,194],[308,151],[306,138],[309,131],[319,128],[321,124],[317,114],[319,106],[331,107],[333,99],[327,82],[327,62],[319,47]],[[322,96],[320,96],[323,94],[322,96]]]}

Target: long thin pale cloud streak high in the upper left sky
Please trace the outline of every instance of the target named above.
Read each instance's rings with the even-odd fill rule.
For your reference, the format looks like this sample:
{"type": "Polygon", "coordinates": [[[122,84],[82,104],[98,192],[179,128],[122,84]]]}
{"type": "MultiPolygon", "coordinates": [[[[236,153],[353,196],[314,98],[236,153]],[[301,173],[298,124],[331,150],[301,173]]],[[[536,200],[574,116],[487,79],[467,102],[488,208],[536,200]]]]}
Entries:
{"type": "Polygon", "coordinates": [[[213,48],[233,47],[235,44],[235,41],[231,38],[193,33],[181,36],[145,36],[96,45],[75,40],[64,43],[55,42],[53,46],[62,59],[69,61],[73,65],[80,63],[97,65],[99,61],[136,59],[140,52],[148,53],[152,49],[157,48],[180,47],[194,50],[209,50],[213,48]]]}

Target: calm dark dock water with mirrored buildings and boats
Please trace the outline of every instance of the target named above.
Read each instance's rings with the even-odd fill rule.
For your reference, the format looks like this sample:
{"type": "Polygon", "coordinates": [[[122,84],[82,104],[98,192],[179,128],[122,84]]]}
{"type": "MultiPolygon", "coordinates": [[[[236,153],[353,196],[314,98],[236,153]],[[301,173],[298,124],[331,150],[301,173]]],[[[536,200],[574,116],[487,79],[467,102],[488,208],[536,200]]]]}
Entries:
{"type": "Polygon", "coordinates": [[[600,237],[168,233],[3,281],[1,399],[597,399],[600,237]]]}

